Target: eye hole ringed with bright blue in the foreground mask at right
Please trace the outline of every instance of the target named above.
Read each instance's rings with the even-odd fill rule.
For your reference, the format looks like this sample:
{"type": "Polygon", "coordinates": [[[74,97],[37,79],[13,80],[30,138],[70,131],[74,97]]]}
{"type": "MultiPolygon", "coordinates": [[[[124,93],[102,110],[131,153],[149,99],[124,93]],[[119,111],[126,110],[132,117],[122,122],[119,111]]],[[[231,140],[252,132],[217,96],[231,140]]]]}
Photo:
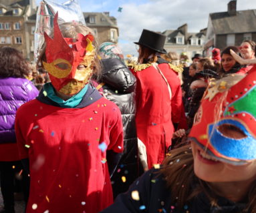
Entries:
{"type": "Polygon", "coordinates": [[[247,138],[247,135],[245,132],[243,132],[240,128],[237,126],[234,126],[232,124],[221,124],[217,127],[219,132],[223,134],[223,136],[226,136],[227,138],[233,138],[233,139],[243,139],[247,138]]]}

